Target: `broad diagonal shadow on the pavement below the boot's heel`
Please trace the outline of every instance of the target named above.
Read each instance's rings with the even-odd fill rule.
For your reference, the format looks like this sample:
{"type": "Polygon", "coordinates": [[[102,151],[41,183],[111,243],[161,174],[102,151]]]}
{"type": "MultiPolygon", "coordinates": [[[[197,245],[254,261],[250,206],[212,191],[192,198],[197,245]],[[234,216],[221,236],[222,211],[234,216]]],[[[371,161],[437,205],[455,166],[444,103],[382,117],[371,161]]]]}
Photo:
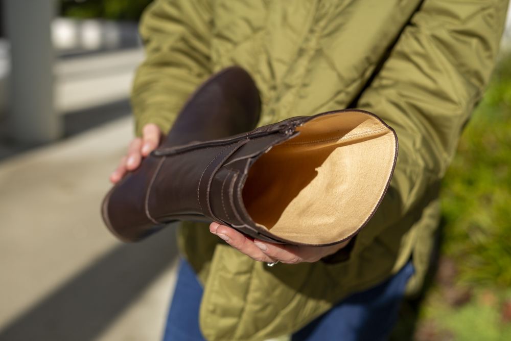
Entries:
{"type": "Polygon", "coordinates": [[[121,244],[7,325],[0,340],[95,339],[176,257],[174,226],[121,244]]]}

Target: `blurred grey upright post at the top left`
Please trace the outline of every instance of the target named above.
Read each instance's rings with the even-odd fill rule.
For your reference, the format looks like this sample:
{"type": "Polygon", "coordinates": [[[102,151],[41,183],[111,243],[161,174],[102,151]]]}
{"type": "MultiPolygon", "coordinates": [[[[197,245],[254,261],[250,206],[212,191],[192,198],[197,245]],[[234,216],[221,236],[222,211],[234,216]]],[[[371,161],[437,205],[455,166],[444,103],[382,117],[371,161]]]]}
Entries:
{"type": "Polygon", "coordinates": [[[54,0],[4,0],[11,47],[9,130],[21,142],[44,143],[61,135],[54,107],[50,28],[55,5],[54,0]]]}

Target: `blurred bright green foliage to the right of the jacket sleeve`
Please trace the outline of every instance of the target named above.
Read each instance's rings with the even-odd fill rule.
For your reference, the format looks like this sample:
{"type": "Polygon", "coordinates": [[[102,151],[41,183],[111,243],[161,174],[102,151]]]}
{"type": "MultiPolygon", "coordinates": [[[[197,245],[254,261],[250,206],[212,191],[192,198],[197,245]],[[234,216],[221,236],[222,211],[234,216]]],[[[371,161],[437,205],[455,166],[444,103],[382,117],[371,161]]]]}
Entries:
{"type": "Polygon", "coordinates": [[[511,57],[499,63],[443,183],[443,253],[466,284],[511,286],[511,57]]]}

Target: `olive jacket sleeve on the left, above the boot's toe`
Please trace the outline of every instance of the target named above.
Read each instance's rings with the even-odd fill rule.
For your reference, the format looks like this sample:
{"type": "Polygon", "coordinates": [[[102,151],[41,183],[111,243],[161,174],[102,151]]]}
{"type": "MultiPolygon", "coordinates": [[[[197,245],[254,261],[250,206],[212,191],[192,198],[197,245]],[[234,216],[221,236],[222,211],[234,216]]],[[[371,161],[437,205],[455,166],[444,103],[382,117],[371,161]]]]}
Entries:
{"type": "Polygon", "coordinates": [[[156,0],[144,12],[140,34],[146,58],[131,94],[137,135],[147,123],[167,133],[181,106],[211,74],[208,5],[207,0],[156,0]]]}

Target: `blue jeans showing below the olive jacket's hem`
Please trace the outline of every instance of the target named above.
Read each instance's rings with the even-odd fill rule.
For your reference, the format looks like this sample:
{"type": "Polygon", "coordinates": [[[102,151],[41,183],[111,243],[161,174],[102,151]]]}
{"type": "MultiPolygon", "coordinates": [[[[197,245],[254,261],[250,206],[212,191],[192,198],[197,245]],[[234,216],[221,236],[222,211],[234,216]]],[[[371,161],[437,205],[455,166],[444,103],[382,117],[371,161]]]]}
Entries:
{"type": "MultiPolygon", "coordinates": [[[[385,340],[398,316],[403,292],[413,274],[408,262],[385,282],[345,298],[292,335],[292,341],[385,340]]],[[[202,287],[187,261],[181,260],[164,341],[203,341],[199,329],[202,287]]]]}

